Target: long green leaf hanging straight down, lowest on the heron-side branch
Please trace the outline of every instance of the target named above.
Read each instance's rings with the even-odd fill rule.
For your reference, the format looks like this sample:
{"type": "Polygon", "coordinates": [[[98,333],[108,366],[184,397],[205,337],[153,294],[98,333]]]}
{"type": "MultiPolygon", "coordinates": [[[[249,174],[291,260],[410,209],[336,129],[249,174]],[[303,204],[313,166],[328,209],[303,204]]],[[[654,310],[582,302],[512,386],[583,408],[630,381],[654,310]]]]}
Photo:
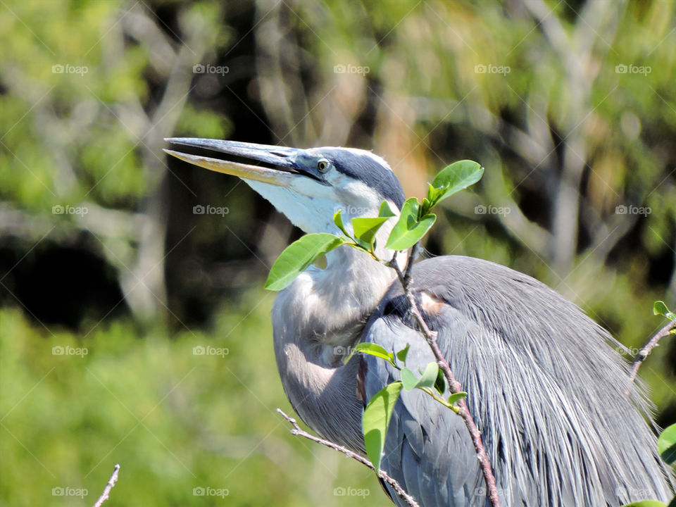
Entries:
{"type": "Polygon", "coordinates": [[[380,472],[380,457],[385,447],[385,436],[394,404],[401,393],[401,382],[392,382],[370,399],[362,416],[366,456],[377,472],[380,472]]]}

